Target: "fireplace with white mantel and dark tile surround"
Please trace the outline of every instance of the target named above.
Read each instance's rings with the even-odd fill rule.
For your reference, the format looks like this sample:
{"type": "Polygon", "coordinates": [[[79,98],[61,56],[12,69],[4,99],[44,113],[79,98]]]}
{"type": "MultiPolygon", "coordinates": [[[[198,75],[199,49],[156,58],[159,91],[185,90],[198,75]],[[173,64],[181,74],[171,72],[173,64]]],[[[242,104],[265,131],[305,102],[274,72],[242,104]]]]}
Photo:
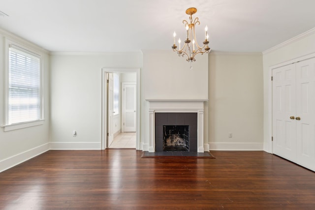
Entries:
{"type": "MultiPolygon", "coordinates": [[[[149,102],[149,142],[143,144],[143,150],[149,152],[163,151],[163,125],[189,125],[189,151],[204,152],[209,151],[208,142],[204,142],[204,102],[208,100],[163,100],[146,99],[149,102]],[[192,116],[194,124],[181,123],[182,117],[174,118],[176,114],[186,114],[192,116]],[[166,116],[170,114],[169,116],[166,116]],[[167,122],[160,122],[156,119],[158,115],[168,119],[167,122]],[[165,117],[166,116],[166,117],[165,117]],[[174,121],[176,119],[176,121],[174,121]],[[157,125],[160,125],[157,127],[157,125]],[[158,136],[157,136],[158,134],[158,136]],[[159,139],[160,141],[157,141],[159,139]],[[193,142],[193,143],[192,143],[193,142]],[[192,144],[191,144],[192,143],[192,144]]],[[[184,115],[185,116],[185,115],[184,115]]],[[[185,118],[185,117],[184,117],[185,118]]],[[[188,119],[188,118],[186,118],[188,119]]]]}

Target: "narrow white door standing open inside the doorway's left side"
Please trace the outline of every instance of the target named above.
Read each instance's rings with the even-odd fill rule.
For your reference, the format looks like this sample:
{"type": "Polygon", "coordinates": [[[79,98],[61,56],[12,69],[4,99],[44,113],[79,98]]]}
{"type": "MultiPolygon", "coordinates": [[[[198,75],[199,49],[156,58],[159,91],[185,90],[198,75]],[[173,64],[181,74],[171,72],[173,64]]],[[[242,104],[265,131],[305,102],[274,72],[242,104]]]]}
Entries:
{"type": "Polygon", "coordinates": [[[107,99],[107,147],[109,147],[113,140],[114,140],[114,134],[113,134],[113,112],[114,112],[114,76],[113,73],[108,73],[107,78],[107,85],[108,85],[108,99],[107,99]]]}

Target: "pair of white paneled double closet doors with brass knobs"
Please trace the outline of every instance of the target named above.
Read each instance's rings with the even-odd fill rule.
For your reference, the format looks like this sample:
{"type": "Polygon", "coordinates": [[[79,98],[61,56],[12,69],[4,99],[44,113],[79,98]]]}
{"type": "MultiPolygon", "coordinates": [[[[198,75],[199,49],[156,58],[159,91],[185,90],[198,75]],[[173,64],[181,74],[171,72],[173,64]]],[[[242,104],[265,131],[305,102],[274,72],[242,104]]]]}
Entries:
{"type": "Polygon", "coordinates": [[[273,152],[315,171],[315,58],[272,74],[273,152]]]}

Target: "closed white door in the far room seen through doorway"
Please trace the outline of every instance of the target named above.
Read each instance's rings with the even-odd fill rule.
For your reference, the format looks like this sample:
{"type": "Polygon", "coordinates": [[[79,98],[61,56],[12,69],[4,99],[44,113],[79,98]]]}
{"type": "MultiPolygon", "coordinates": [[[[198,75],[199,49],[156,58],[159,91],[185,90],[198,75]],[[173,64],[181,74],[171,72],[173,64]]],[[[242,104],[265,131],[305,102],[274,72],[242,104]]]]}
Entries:
{"type": "Polygon", "coordinates": [[[123,132],[136,132],[136,84],[122,83],[123,132]]]}

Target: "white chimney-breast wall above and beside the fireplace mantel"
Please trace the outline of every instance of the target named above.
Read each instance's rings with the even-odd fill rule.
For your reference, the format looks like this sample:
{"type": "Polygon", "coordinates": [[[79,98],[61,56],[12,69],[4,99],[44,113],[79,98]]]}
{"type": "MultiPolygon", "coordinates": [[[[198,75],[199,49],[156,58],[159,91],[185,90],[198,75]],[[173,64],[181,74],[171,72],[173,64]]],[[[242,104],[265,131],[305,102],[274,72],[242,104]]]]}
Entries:
{"type": "MultiPolygon", "coordinates": [[[[143,150],[149,150],[149,102],[146,99],[208,99],[208,55],[197,55],[192,63],[169,51],[143,51],[141,74],[141,135],[143,150]]],[[[208,103],[205,103],[205,127],[208,103]]],[[[208,130],[205,129],[205,144],[208,130]]]]}

